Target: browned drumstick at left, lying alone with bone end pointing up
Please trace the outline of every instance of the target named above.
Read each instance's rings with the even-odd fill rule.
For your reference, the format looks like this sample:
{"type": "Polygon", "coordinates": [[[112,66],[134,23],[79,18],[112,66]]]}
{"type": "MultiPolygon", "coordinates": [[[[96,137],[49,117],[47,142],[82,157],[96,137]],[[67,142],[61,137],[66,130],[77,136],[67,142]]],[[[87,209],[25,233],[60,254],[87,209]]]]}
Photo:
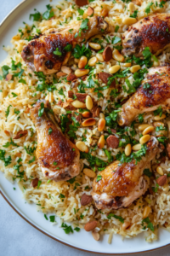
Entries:
{"type": "Polygon", "coordinates": [[[54,181],[68,180],[80,172],[80,153],[77,147],[66,138],[50,114],[48,102],[37,102],[31,108],[31,119],[37,130],[37,160],[42,173],[54,181]],[[40,110],[45,108],[40,114],[40,110]],[[39,112],[39,114],[38,114],[39,112]]]}

